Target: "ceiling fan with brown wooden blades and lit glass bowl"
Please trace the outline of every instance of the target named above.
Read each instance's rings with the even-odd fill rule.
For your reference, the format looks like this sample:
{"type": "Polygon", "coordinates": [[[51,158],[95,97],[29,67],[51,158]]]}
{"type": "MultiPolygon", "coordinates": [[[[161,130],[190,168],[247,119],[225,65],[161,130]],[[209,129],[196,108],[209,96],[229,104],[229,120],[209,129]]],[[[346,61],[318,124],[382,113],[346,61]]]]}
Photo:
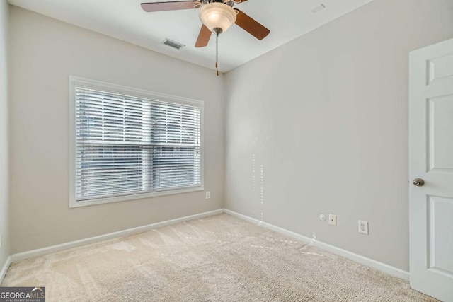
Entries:
{"type": "Polygon", "coordinates": [[[198,34],[195,47],[205,47],[210,40],[211,33],[217,36],[225,32],[233,23],[246,30],[258,40],[269,35],[270,30],[253,20],[237,8],[234,4],[240,4],[247,0],[202,0],[202,1],[167,1],[142,3],[142,8],[147,12],[174,11],[178,9],[200,8],[200,20],[202,27],[198,34]]]}

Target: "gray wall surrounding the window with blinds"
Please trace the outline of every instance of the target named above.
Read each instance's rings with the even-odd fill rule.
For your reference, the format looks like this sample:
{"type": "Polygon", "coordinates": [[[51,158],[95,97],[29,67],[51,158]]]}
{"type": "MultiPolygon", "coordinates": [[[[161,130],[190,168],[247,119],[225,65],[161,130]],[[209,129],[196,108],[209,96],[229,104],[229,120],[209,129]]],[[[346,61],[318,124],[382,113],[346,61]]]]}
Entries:
{"type": "Polygon", "coordinates": [[[16,6],[10,15],[11,253],[222,207],[223,76],[16,6]],[[191,192],[69,209],[69,75],[204,100],[211,199],[191,192]]]}

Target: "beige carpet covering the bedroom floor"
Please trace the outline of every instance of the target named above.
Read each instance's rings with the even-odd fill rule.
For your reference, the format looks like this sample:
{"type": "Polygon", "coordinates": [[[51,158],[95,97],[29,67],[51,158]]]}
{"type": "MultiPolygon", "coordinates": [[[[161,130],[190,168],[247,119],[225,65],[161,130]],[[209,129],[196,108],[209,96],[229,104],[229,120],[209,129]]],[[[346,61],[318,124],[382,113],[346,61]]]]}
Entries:
{"type": "Polygon", "coordinates": [[[227,214],[11,265],[47,301],[435,301],[408,283],[227,214]]]}

